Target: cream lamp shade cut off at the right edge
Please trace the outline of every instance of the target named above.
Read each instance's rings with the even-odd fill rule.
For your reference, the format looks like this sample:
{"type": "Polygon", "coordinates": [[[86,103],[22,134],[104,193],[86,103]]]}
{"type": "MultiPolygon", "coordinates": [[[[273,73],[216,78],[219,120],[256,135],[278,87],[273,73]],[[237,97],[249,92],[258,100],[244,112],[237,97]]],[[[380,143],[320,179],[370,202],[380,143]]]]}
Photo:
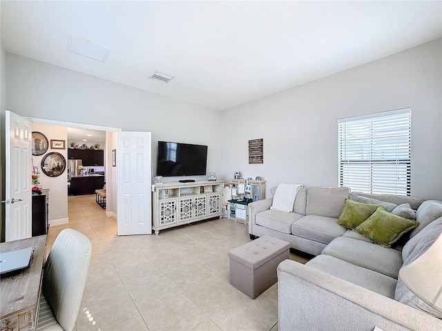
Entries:
{"type": "Polygon", "coordinates": [[[418,259],[401,268],[399,275],[416,297],[442,312],[442,234],[418,259]]]}

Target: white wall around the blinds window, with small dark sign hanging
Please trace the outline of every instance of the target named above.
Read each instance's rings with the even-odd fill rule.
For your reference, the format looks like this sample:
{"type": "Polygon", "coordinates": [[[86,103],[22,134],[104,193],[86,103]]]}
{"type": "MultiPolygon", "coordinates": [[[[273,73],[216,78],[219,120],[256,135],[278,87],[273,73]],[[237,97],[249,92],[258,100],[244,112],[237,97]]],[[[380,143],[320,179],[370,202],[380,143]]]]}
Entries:
{"type": "Polygon", "coordinates": [[[261,176],[267,194],[281,182],[336,186],[336,120],[411,107],[412,196],[442,199],[441,40],[225,111],[223,177],[261,176]],[[249,165],[259,138],[264,163],[249,165]]]}

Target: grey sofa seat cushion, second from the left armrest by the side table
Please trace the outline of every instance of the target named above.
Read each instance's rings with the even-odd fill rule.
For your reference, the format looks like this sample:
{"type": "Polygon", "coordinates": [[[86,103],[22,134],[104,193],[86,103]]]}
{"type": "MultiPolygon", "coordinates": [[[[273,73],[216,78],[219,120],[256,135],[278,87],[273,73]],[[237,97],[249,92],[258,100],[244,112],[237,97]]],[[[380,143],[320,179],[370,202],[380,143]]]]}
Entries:
{"type": "Polygon", "coordinates": [[[329,243],[345,233],[345,228],[334,217],[307,215],[291,225],[291,233],[305,239],[329,243]]]}

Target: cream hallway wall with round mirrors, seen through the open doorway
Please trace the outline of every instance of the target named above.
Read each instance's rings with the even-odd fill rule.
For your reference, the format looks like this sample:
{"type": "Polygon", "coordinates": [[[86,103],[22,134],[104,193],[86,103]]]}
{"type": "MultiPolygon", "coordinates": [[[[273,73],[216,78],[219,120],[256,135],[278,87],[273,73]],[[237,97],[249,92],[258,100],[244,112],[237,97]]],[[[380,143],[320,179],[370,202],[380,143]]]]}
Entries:
{"type": "MultiPolygon", "coordinates": [[[[32,123],[32,131],[41,132],[48,138],[56,140],[68,139],[68,130],[64,126],[48,126],[46,124],[32,123]]],[[[32,155],[32,163],[39,167],[39,181],[43,188],[49,189],[49,223],[50,225],[60,225],[68,223],[68,170],[64,170],[57,177],[48,177],[41,171],[41,160],[50,152],[57,152],[68,159],[68,150],[52,150],[49,146],[48,151],[39,156],[32,155]]],[[[67,165],[66,165],[67,166],[67,165]]],[[[30,174],[29,174],[30,178],[30,174]]]]}

